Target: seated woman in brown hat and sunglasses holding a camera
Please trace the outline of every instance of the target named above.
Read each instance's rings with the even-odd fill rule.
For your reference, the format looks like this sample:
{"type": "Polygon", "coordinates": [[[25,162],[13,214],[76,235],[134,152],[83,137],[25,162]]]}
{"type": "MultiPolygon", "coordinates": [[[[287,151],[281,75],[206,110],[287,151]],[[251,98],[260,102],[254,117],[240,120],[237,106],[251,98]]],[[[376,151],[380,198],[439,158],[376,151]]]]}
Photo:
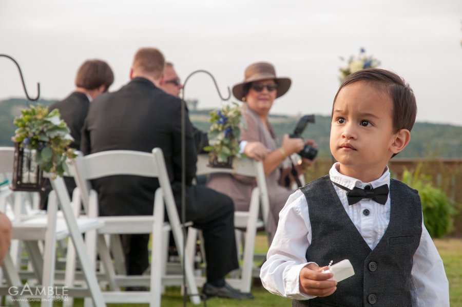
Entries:
{"type": "MultiPolygon", "coordinates": [[[[293,192],[279,184],[281,178],[289,178],[289,183],[291,180],[287,177],[290,168],[282,168],[281,164],[288,156],[300,152],[305,142],[284,135],[282,145],[278,146],[274,130],[268,122],[268,114],[274,100],[289,90],[291,80],[278,78],[274,66],[269,63],[252,64],[245,69],[244,75],[244,81],[233,87],[233,94],[247,105],[247,111],[243,112],[247,127],[241,129],[241,141],[261,142],[268,149],[268,154],[263,159],[263,168],[270,205],[267,229],[268,241],[271,243],[276,232],[279,211],[293,192]]],[[[314,144],[312,140],[308,140],[307,143],[314,144]]],[[[298,174],[303,174],[311,163],[310,160],[302,159],[302,162],[295,166],[298,174]]],[[[285,180],[283,181],[285,184],[285,180]]],[[[229,174],[210,175],[207,183],[208,187],[231,197],[237,211],[248,211],[254,185],[253,179],[229,174]]]]}

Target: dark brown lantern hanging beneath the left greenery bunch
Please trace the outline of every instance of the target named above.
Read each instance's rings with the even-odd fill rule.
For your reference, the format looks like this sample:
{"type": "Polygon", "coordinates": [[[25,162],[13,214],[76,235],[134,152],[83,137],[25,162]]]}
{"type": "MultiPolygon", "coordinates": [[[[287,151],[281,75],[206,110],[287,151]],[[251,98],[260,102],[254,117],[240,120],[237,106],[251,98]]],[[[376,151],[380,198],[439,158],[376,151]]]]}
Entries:
{"type": "Polygon", "coordinates": [[[38,192],[42,190],[43,183],[43,171],[35,163],[31,150],[24,149],[20,143],[15,143],[11,189],[38,192]]]}

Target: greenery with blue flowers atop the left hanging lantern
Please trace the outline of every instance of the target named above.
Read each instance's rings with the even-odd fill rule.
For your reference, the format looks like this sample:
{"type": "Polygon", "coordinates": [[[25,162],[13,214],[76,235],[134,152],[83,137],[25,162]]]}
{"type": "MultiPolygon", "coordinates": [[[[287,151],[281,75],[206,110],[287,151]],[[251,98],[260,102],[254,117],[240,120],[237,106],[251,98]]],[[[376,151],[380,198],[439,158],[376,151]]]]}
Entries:
{"type": "Polygon", "coordinates": [[[14,119],[14,125],[19,128],[11,140],[29,150],[36,150],[34,159],[40,169],[52,176],[63,176],[68,171],[66,159],[76,155],[74,149],[69,148],[73,139],[59,110],[48,112],[48,107],[37,104],[21,112],[22,115],[14,119]]]}

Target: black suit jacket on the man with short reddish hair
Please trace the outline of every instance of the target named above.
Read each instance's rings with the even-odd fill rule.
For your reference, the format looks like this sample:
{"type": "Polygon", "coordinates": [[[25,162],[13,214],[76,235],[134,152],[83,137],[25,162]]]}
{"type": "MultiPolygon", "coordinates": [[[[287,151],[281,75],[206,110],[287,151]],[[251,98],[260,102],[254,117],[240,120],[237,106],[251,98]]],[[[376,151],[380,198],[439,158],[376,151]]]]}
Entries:
{"type": "MultiPolygon", "coordinates": [[[[196,147],[186,114],[186,184],[196,175],[196,147]]],[[[149,80],[134,78],[120,90],[104,93],[90,105],[82,129],[84,155],[106,150],[151,152],[160,147],[174,193],[181,183],[181,100],[149,80]]],[[[110,176],[92,181],[100,215],[151,215],[157,179],[110,176]]]]}

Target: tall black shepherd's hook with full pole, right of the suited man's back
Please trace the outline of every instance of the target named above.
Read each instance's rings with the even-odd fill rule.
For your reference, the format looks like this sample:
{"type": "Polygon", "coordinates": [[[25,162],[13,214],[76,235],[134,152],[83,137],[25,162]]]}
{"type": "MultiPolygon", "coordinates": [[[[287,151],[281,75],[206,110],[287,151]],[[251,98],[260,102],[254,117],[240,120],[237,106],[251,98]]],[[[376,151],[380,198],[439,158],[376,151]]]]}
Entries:
{"type": "MultiPolygon", "coordinates": [[[[215,81],[214,76],[206,71],[206,70],[196,70],[191,72],[183,84],[183,93],[181,99],[181,222],[183,223],[183,236],[186,238],[186,228],[184,226],[186,222],[186,139],[185,139],[185,117],[186,117],[186,102],[184,101],[184,89],[186,88],[186,82],[188,82],[189,78],[193,74],[198,72],[205,72],[210,76],[210,78],[214,81],[215,88],[217,89],[218,95],[220,96],[221,100],[227,101],[231,98],[231,90],[228,86],[228,98],[223,98],[221,95],[220,89],[218,88],[217,81],[215,81]]],[[[184,295],[183,295],[183,305],[186,307],[186,298],[188,289],[186,286],[186,274],[184,271],[184,263],[186,261],[186,240],[183,240],[183,286],[184,286],[184,295]]],[[[204,307],[206,304],[206,298],[204,298],[204,307]]]]}

